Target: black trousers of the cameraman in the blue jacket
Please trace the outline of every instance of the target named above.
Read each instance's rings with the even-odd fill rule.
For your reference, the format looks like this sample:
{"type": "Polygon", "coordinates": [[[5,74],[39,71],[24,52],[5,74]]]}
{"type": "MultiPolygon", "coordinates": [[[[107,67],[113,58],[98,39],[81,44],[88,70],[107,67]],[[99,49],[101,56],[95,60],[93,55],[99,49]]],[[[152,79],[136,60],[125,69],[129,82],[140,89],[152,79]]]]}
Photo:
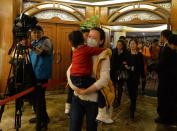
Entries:
{"type": "Polygon", "coordinates": [[[48,80],[46,79],[37,80],[35,90],[32,92],[32,104],[37,118],[36,123],[37,130],[42,127],[47,127],[47,123],[49,121],[49,117],[46,111],[46,99],[45,99],[46,89],[43,88],[42,86],[42,84],[45,84],[47,82],[48,80]]]}

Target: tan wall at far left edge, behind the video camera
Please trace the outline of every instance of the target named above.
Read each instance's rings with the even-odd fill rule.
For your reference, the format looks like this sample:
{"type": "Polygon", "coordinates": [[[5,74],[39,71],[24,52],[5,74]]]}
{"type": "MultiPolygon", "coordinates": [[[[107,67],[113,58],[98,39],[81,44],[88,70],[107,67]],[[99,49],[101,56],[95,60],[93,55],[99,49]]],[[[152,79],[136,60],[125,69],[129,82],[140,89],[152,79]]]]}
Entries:
{"type": "Polygon", "coordinates": [[[0,92],[4,92],[9,74],[8,50],[13,41],[13,19],[21,7],[19,3],[21,0],[1,0],[0,4],[0,92]]]}

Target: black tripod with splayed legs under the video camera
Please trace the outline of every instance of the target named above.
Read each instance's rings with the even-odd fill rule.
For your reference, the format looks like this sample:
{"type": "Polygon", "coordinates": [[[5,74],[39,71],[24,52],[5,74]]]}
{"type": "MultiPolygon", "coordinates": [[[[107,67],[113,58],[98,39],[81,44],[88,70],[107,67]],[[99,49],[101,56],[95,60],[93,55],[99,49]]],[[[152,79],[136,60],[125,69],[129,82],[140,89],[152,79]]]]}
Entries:
{"type": "MultiPolygon", "coordinates": [[[[28,83],[29,77],[35,78],[34,74],[33,74],[34,76],[31,75],[28,76],[29,74],[27,74],[26,72],[29,69],[30,72],[33,72],[33,69],[32,65],[30,64],[29,50],[22,43],[19,42],[14,48],[10,63],[11,68],[8,75],[5,97],[9,95],[15,95],[25,90],[26,87],[31,86],[30,83],[28,83]]],[[[23,108],[23,97],[20,97],[15,100],[14,128],[17,131],[19,131],[19,128],[21,127],[22,108],[23,108]]]]}

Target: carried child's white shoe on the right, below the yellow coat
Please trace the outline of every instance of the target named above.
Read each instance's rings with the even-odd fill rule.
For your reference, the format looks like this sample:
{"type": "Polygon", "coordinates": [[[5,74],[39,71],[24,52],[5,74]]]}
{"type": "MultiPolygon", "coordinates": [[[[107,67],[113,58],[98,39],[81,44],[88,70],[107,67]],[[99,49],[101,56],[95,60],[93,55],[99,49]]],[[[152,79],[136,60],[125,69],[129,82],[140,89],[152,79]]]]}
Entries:
{"type": "Polygon", "coordinates": [[[114,121],[111,119],[109,112],[107,112],[106,107],[98,109],[98,115],[96,120],[104,122],[106,124],[112,124],[114,121]]]}

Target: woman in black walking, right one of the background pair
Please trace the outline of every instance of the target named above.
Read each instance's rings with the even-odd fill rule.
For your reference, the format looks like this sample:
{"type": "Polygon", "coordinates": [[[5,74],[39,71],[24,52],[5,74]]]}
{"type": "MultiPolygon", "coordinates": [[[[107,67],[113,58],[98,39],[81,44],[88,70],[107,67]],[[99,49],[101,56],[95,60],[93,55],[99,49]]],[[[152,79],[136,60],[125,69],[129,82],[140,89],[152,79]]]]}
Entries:
{"type": "Polygon", "coordinates": [[[144,58],[142,53],[137,50],[137,40],[129,41],[130,52],[128,54],[127,64],[125,68],[128,70],[127,89],[130,97],[130,118],[134,119],[136,111],[136,99],[138,96],[138,85],[140,77],[145,79],[144,58]]]}

